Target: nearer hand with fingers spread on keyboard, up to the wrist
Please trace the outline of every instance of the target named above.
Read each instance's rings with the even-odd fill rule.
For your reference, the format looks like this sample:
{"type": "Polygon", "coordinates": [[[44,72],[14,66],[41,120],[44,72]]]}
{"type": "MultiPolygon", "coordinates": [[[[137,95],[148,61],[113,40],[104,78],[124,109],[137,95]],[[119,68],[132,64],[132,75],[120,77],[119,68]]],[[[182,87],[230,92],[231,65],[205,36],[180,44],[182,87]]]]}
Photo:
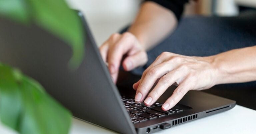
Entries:
{"type": "Polygon", "coordinates": [[[178,87],[163,104],[163,110],[175,106],[189,90],[211,88],[217,81],[217,69],[211,57],[195,57],[163,52],[143,72],[141,79],[133,85],[135,101],[142,102],[156,83],[144,103],[153,105],[165,90],[176,83],[178,87]]]}

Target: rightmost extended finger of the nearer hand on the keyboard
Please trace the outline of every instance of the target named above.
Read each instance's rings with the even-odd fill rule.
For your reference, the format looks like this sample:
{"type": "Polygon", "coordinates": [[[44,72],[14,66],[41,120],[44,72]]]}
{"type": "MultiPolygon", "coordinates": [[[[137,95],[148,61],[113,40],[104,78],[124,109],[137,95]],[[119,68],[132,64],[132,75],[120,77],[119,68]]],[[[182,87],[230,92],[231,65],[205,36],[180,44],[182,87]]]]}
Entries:
{"type": "Polygon", "coordinates": [[[192,89],[192,83],[189,79],[185,79],[173,92],[172,96],[169,97],[163,104],[162,109],[167,111],[174,107],[182,97],[192,89]]]}

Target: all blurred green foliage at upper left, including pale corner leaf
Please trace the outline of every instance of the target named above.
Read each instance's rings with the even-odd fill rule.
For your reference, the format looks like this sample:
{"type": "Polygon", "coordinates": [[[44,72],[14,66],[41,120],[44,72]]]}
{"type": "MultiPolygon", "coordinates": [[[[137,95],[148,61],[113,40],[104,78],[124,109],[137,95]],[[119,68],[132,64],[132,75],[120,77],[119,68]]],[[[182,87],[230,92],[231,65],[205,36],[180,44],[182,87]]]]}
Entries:
{"type": "Polygon", "coordinates": [[[0,0],[0,15],[26,25],[36,23],[66,41],[73,49],[70,60],[77,68],[84,55],[84,33],[77,12],[65,0],[0,0]]]}

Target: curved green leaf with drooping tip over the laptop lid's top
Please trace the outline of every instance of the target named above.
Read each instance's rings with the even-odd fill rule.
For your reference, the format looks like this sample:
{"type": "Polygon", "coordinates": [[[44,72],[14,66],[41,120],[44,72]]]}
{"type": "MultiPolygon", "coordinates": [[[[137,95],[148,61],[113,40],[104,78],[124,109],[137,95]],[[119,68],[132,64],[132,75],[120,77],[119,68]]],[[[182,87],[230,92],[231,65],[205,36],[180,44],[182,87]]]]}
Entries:
{"type": "Polygon", "coordinates": [[[68,42],[73,49],[70,65],[77,68],[84,56],[84,33],[77,12],[64,0],[28,0],[38,25],[68,42]]]}

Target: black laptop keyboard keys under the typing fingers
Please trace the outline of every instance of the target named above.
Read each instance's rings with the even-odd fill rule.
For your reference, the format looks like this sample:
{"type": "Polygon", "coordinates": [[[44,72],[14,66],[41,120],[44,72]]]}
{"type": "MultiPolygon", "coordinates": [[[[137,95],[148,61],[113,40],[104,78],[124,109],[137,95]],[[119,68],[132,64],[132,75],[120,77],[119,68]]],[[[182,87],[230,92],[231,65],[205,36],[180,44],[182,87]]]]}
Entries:
{"type": "Polygon", "coordinates": [[[170,110],[164,111],[161,108],[163,104],[160,102],[155,102],[151,106],[146,106],[143,102],[135,103],[133,98],[126,96],[122,96],[121,100],[124,102],[126,111],[129,113],[130,119],[134,124],[179,113],[186,109],[184,108],[186,106],[177,104],[170,110]]]}

